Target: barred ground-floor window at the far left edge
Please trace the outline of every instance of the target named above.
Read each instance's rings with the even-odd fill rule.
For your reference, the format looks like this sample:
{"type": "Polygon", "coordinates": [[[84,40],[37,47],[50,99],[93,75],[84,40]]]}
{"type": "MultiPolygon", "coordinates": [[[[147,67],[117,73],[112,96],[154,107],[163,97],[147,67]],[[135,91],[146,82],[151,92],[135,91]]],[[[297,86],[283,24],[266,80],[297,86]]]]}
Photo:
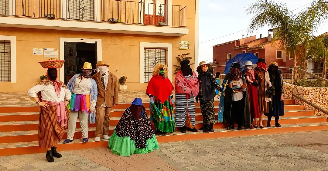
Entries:
{"type": "Polygon", "coordinates": [[[10,82],[10,41],[0,40],[0,82],[10,82]]]}

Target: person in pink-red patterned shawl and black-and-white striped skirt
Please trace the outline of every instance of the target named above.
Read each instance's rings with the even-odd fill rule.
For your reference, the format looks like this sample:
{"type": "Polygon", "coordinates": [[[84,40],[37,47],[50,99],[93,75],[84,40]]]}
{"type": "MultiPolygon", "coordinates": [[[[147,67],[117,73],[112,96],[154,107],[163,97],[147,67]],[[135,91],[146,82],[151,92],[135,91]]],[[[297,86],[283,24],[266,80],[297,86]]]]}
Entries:
{"type": "Polygon", "coordinates": [[[195,97],[198,95],[197,75],[191,69],[189,60],[180,62],[181,70],[174,79],[175,85],[175,124],[182,133],[198,132],[195,128],[195,97]],[[187,107],[186,107],[187,105],[187,107]]]}

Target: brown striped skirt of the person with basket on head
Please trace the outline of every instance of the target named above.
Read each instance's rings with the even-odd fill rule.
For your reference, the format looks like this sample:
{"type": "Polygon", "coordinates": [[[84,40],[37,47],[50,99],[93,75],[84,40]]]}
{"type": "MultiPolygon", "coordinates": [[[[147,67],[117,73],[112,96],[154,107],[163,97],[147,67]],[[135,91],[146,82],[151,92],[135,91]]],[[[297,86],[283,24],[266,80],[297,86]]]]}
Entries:
{"type": "MultiPolygon", "coordinates": [[[[67,120],[70,110],[65,107],[67,120]]],[[[57,145],[65,133],[65,128],[57,122],[57,105],[40,107],[39,117],[39,148],[49,148],[57,145]]]]}

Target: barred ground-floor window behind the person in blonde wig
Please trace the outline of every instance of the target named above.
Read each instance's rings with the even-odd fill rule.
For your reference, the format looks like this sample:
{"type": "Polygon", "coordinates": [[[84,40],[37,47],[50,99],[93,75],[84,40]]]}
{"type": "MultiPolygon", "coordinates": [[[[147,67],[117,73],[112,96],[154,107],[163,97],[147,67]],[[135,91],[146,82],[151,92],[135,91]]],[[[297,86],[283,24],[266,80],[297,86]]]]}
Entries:
{"type": "Polygon", "coordinates": [[[157,63],[168,65],[168,49],[159,47],[144,48],[144,82],[152,78],[153,68],[157,63]]]}

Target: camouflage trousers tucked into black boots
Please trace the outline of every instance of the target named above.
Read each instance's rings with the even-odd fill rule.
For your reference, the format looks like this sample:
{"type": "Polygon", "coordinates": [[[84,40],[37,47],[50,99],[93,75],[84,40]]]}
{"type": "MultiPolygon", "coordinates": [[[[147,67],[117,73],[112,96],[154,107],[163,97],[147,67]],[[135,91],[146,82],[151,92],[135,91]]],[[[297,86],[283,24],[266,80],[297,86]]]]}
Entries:
{"type": "Polygon", "coordinates": [[[215,124],[215,111],[214,111],[214,99],[211,100],[199,100],[200,110],[203,115],[204,124],[215,124]]]}

